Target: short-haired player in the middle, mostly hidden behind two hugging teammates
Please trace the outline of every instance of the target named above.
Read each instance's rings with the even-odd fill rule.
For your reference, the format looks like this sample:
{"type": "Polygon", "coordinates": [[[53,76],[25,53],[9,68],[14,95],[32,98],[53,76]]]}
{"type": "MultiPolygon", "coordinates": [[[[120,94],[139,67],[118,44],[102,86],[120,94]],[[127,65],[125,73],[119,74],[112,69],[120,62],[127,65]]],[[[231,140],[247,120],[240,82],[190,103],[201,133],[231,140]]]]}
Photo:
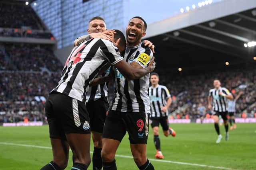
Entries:
{"type": "MultiPolygon", "coordinates": [[[[90,38],[111,39],[111,33],[114,30],[108,30],[103,18],[96,16],[90,19],[87,32],[88,35],[83,35],[74,41],[74,45],[90,38]]],[[[144,45],[148,45],[154,49],[150,41],[144,41],[144,45]]],[[[110,70],[110,69],[108,69],[110,70]]],[[[108,76],[109,71],[104,72],[98,77],[108,76]]],[[[102,168],[102,158],[100,152],[102,150],[102,131],[106,119],[106,113],[109,109],[108,104],[108,84],[102,83],[97,86],[92,86],[86,93],[86,108],[90,116],[92,141],[94,150],[92,154],[92,169],[100,170],[102,168]]]]}

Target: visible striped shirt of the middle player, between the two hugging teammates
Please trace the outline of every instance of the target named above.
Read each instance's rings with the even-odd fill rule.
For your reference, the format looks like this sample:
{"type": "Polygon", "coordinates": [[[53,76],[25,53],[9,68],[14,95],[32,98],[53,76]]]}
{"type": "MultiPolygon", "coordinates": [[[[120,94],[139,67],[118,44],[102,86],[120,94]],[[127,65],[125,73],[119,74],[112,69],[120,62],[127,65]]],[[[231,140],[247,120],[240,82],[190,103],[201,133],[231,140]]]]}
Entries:
{"type": "MultiPolygon", "coordinates": [[[[98,75],[97,77],[108,76],[110,73],[110,68],[106,70],[102,75],[98,75]]],[[[86,93],[86,102],[96,101],[100,98],[104,98],[108,96],[108,83],[98,84],[97,86],[91,86],[86,93]]]]}

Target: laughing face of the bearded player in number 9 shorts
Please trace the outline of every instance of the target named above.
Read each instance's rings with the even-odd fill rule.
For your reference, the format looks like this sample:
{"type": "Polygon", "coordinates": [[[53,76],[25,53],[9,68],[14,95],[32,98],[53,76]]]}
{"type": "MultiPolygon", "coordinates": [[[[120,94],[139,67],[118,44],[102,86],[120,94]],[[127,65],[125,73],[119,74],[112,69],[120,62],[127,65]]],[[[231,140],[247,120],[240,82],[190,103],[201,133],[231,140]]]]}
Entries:
{"type": "Polygon", "coordinates": [[[132,18],[126,27],[126,41],[128,46],[140,44],[142,37],[146,35],[145,25],[139,18],[132,18]]]}

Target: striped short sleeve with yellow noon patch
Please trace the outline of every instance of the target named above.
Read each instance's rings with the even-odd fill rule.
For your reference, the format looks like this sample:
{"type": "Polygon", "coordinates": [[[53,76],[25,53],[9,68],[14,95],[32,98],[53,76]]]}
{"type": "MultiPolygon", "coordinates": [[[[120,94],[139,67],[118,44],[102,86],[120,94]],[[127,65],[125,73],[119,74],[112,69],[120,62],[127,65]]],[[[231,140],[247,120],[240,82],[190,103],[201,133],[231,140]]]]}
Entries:
{"type": "Polygon", "coordinates": [[[145,50],[140,51],[138,57],[132,60],[132,62],[136,62],[140,64],[143,68],[145,68],[148,63],[150,63],[151,59],[153,58],[153,52],[146,47],[145,50]]]}

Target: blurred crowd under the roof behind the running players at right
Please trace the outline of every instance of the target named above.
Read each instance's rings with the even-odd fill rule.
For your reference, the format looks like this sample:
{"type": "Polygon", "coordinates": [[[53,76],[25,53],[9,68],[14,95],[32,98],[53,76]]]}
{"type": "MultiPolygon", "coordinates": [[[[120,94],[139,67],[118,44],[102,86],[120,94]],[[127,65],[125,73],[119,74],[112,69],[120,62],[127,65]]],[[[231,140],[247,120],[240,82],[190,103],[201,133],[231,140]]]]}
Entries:
{"type": "MultiPolygon", "coordinates": [[[[236,96],[238,91],[242,90],[244,94],[236,102],[236,112],[242,113],[244,109],[256,102],[256,70],[251,68],[231,69],[225,71],[207,72],[193,76],[183,76],[171,80],[168,76],[160,76],[161,84],[170,89],[170,93],[175,96],[170,111],[174,111],[184,104],[189,106],[180,111],[180,116],[190,115],[192,118],[199,117],[198,104],[206,108],[206,113],[211,113],[208,109],[207,96],[213,88],[214,78],[222,82],[222,86],[236,96]],[[212,76],[209,76],[212,75],[212,76]]],[[[252,109],[254,110],[254,109],[252,109]]],[[[253,111],[252,111],[253,112],[253,111]]],[[[255,112],[254,112],[255,113],[255,112]]],[[[253,115],[254,115],[253,113],[253,115]]],[[[252,113],[248,116],[252,116],[252,113]]]]}

